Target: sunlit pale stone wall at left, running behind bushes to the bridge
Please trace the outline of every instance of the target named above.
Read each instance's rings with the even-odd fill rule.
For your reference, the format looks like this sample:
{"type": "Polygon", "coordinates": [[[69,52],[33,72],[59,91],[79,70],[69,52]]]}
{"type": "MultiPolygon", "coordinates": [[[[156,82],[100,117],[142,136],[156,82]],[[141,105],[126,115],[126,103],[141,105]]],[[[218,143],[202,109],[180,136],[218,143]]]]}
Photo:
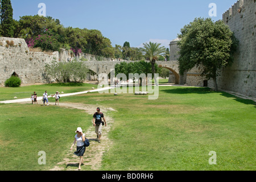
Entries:
{"type": "MultiPolygon", "coordinates": [[[[28,49],[24,39],[0,37],[0,85],[3,86],[12,75],[18,75],[22,84],[55,81],[46,78],[44,73],[46,64],[51,64],[52,61],[68,62],[74,59],[86,60],[84,63],[97,74],[110,72],[115,62],[125,61],[85,53],[75,56],[65,49],[52,53],[34,52],[28,49]]],[[[90,75],[87,78],[88,80],[95,79],[90,75]]]]}

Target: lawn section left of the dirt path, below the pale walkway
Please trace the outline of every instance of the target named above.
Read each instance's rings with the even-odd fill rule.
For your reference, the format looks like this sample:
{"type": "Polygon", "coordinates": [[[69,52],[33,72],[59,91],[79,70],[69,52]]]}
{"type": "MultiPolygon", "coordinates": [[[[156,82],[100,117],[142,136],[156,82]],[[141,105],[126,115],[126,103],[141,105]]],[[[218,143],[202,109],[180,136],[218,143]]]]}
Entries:
{"type": "Polygon", "coordinates": [[[75,130],[89,127],[84,111],[28,104],[0,104],[0,171],[47,170],[63,160],[75,130]],[[39,165],[39,151],[46,165],[39,165]]]}

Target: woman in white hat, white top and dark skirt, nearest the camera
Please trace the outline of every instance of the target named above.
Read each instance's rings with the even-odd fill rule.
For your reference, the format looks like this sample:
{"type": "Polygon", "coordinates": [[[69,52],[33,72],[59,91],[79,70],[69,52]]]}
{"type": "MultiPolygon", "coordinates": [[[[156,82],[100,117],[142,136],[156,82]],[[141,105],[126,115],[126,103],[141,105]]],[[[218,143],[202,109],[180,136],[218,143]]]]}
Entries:
{"type": "Polygon", "coordinates": [[[81,127],[78,127],[76,130],[76,135],[75,135],[75,140],[70,148],[70,150],[73,149],[74,144],[77,142],[76,144],[76,151],[74,152],[75,155],[80,156],[80,162],[79,162],[79,170],[81,170],[81,164],[83,162],[83,156],[84,156],[84,152],[85,152],[85,134],[82,133],[82,129],[81,127]]]}

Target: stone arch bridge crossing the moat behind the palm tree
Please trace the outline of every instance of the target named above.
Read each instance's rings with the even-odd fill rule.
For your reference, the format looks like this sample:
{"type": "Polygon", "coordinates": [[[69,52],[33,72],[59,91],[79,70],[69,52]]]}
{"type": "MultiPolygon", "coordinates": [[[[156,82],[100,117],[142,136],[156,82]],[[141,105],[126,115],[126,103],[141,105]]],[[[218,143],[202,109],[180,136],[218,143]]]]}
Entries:
{"type": "MultiPolygon", "coordinates": [[[[115,64],[120,64],[121,62],[127,62],[131,63],[131,61],[85,61],[85,65],[88,67],[88,69],[95,72],[97,75],[100,75],[101,73],[106,73],[106,75],[109,75],[112,69],[114,69],[115,64]]],[[[169,69],[172,74],[172,82],[175,84],[182,84],[180,79],[181,76],[179,75],[179,63],[178,61],[156,61],[156,64],[158,67],[161,68],[167,68],[169,69]]]]}

